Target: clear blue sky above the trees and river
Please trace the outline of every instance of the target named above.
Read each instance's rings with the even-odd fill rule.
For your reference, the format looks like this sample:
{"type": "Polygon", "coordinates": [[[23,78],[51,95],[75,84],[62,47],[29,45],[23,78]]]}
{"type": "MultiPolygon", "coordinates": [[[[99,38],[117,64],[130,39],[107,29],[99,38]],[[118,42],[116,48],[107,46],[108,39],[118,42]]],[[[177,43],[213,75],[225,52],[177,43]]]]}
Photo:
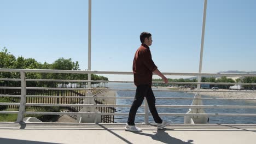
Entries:
{"type": "MultiPolygon", "coordinates": [[[[88,69],[88,1],[2,0],[0,5],[1,49],[41,63],[72,58],[88,69]]],[[[208,0],[202,72],[256,71],[255,8],[253,0],[208,0]]],[[[91,69],[132,71],[139,34],[147,31],[160,71],[196,73],[202,16],[203,0],[92,0],[91,69]]]]}

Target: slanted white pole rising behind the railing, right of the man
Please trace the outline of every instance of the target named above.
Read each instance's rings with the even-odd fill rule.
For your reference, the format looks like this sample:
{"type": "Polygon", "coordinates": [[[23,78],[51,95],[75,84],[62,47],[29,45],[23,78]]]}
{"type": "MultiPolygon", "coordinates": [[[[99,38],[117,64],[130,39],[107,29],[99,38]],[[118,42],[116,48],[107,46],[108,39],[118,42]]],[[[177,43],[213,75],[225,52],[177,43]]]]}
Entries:
{"type": "MultiPolygon", "coordinates": [[[[205,43],[205,20],[206,20],[206,8],[207,0],[205,0],[203,6],[203,23],[202,23],[202,37],[201,37],[201,51],[200,51],[200,63],[199,63],[199,73],[202,72],[202,57],[203,57],[203,44],[205,43]]],[[[201,75],[198,75],[197,82],[201,82],[201,75]]],[[[197,90],[200,90],[200,83],[197,84],[197,90]]]]}

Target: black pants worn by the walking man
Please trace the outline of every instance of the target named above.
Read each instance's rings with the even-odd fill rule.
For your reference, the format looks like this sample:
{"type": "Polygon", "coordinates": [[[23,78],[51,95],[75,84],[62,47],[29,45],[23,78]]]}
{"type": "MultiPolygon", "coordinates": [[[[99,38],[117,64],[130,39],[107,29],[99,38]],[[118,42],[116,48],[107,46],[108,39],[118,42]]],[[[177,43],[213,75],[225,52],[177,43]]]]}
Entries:
{"type": "Polygon", "coordinates": [[[139,86],[137,86],[135,98],[133,100],[133,103],[132,103],[132,106],[131,106],[131,109],[129,112],[129,118],[127,121],[127,123],[129,125],[135,125],[135,123],[134,123],[135,115],[138,110],[138,107],[141,106],[141,104],[144,100],[144,97],[146,97],[146,99],[148,101],[148,107],[149,107],[150,112],[152,113],[154,121],[156,123],[162,123],[162,119],[159,117],[158,111],[155,108],[155,96],[154,96],[151,86],[139,85],[139,86]]]}

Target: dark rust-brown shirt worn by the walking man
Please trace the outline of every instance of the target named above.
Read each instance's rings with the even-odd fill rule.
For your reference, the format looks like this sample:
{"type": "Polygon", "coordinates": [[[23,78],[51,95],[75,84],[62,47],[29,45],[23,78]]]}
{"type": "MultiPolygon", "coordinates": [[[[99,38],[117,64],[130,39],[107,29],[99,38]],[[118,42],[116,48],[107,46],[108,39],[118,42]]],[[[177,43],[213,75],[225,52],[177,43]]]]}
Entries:
{"type": "Polygon", "coordinates": [[[155,63],[152,60],[151,52],[146,44],[142,44],[135,53],[133,59],[133,77],[134,84],[138,85],[152,85],[152,75],[155,71],[155,63]]]}

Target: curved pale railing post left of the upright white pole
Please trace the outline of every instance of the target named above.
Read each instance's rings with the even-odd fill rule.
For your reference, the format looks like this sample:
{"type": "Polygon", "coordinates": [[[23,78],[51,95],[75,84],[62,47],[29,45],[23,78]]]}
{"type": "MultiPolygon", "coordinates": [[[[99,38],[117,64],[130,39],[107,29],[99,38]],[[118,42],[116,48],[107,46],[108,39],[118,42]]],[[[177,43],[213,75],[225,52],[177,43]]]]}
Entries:
{"type": "Polygon", "coordinates": [[[27,89],[26,89],[26,74],[24,71],[20,71],[20,79],[21,79],[21,97],[20,97],[20,107],[19,107],[19,113],[17,118],[17,123],[23,122],[23,118],[25,115],[25,108],[26,108],[26,95],[27,95],[27,89]]]}

